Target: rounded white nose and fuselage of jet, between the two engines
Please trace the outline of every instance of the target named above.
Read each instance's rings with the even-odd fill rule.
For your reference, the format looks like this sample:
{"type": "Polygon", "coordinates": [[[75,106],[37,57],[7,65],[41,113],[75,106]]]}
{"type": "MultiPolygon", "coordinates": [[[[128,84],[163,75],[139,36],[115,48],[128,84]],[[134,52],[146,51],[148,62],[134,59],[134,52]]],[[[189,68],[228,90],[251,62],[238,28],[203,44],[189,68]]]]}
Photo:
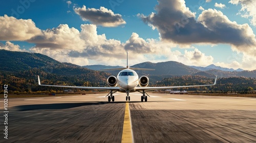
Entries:
{"type": "Polygon", "coordinates": [[[139,76],[132,69],[121,70],[117,75],[117,84],[121,88],[121,92],[126,90],[134,92],[134,88],[139,84],[139,76]]]}

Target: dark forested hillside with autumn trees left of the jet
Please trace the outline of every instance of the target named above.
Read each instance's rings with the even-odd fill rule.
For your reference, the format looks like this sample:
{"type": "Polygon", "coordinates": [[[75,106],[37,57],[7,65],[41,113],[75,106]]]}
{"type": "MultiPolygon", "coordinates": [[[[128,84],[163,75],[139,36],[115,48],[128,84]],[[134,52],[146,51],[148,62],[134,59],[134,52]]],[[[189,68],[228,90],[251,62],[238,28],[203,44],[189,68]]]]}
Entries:
{"type": "Polygon", "coordinates": [[[105,81],[110,76],[103,71],[95,71],[71,63],[60,63],[42,54],[6,50],[0,50],[0,54],[2,54],[0,83],[8,84],[8,89],[13,91],[61,90],[38,86],[37,75],[40,76],[42,84],[76,86],[106,86],[105,81]]]}

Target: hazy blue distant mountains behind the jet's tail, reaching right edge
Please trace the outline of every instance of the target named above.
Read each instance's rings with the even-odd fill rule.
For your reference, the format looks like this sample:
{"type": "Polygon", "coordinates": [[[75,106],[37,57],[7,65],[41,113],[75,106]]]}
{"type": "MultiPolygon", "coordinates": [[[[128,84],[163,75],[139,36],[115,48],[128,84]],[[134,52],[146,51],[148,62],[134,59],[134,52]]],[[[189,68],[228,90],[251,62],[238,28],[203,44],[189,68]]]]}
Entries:
{"type": "MultiPolygon", "coordinates": [[[[105,66],[105,65],[90,65],[83,66],[86,68],[99,70],[104,68],[116,68],[121,66],[105,66]]],[[[206,67],[199,66],[187,66],[179,62],[175,61],[167,61],[167,62],[143,62],[131,67],[140,67],[140,68],[153,68],[153,71],[143,71],[138,70],[137,73],[139,75],[147,75],[147,76],[183,76],[183,75],[193,75],[193,76],[204,76],[208,78],[218,77],[247,77],[247,78],[256,78],[256,70],[243,70],[237,69],[232,70],[232,68],[223,68],[220,66],[209,65],[206,67]],[[216,68],[215,68],[216,67],[216,68]]],[[[112,75],[117,75],[119,71],[115,70],[106,70],[105,72],[110,73],[112,75]]]]}

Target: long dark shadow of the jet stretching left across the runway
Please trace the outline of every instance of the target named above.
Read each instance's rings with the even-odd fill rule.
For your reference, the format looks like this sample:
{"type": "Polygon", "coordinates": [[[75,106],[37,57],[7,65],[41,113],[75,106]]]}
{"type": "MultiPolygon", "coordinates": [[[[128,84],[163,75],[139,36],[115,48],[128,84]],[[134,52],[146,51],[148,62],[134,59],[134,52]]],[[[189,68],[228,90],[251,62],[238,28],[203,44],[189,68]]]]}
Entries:
{"type": "MultiPolygon", "coordinates": [[[[155,102],[155,101],[148,101],[148,102],[155,102]]],[[[159,101],[157,101],[159,102],[159,101]]],[[[166,102],[166,101],[165,101],[166,102]]],[[[29,111],[29,110],[55,110],[55,109],[69,109],[75,108],[80,106],[90,106],[90,105],[103,105],[103,104],[120,104],[126,103],[124,102],[84,102],[84,103],[53,103],[53,104],[34,104],[34,105],[19,105],[13,107],[18,111],[29,111]]],[[[129,103],[140,103],[140,101],[131,101],[129,103]]]]}

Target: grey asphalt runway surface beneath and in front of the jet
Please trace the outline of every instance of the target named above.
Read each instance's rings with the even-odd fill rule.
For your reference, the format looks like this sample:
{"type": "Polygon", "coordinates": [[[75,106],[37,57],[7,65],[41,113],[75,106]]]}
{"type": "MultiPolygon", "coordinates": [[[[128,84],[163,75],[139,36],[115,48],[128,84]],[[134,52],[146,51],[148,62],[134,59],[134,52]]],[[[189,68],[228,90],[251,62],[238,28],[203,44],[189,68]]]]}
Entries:
{"type": "MultiPolygon", "coordinates": [[[[133,142],[256,142],[256,98],[149,95],[130,93],[133,142]]],[[[0,142],[122,142],[125,93],[105,96],[9,98],[0,142]]]]}

